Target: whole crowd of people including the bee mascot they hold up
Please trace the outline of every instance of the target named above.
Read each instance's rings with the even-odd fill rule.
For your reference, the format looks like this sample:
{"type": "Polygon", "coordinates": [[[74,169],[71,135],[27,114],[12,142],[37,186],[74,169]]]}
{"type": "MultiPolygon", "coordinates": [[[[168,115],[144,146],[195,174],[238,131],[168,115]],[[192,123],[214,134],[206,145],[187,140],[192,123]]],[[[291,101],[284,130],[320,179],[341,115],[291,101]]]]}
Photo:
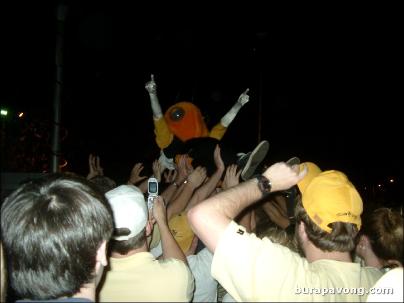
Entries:
{"type": "Polygon", "coordinates": [[[297,157],[262,163],[266,141],[222,144],[248,89],[213,131],[187,136],[174,124],[188,104],[163,115],[153,75],[146,89],[159,159],[116,184],[90,155],[87,176],[2,201],[2,302],[403,300],[402,207],[366,209],[343,172],[297,157]]]}

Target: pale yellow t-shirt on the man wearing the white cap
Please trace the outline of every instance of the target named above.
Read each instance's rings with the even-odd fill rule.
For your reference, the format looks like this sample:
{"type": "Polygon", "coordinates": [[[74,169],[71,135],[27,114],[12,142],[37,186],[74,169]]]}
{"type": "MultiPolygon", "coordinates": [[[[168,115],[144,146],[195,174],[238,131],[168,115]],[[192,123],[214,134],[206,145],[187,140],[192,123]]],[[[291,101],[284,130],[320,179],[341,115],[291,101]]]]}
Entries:
{"type": "Polygon", "coordinates": [[[184,262],[163,261],[149,252],[110,258],[99,302],[189,302],[194,278],[184,262]]]}

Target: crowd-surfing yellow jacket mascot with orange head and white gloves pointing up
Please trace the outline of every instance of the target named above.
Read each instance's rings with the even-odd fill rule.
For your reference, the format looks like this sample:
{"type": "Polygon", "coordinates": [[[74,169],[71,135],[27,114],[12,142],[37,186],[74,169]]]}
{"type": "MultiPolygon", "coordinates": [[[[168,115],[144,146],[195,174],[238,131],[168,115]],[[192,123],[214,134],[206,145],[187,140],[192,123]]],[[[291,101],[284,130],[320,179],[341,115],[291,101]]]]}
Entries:
{"type": "Polygon", "coordinates": [[[252,152],[247,154],[236,153],[220,142],[238,111],[248,102],[249,89],[240,95],[229,112],[211,130],[208,129],[199,108],[190,102],[176,103],[163,115],[157,98],[154,75],[146,84],[146,90],[149,92],[152,105],[156,142],[162,150],[160,162],[168,169],[174,169],[173,164],[178,163],[180,155],[188,154],[190,164],[193,167],[199,165],[206,167],[207,174],[210,176],[216,169],[213,155],[216,144],[219,144],[225,166],[237,164],[242,169],[241,178],[247,180],[265,158],[269,148],[267,141],[261,141],[252,152]]]}

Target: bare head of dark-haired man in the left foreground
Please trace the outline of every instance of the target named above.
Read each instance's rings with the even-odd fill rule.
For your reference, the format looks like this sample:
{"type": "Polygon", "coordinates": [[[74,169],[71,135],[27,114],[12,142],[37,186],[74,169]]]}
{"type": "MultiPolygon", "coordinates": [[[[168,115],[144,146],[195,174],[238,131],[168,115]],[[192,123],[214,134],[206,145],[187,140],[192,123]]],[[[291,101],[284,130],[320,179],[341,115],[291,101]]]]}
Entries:
{"type": "Polygon", "coordinates": [[[3,204],[1,226],[10,286],[22,298],[47,300],[98,282],[113,217],[88,180],[53,175],[14,191],[3,204]]]}

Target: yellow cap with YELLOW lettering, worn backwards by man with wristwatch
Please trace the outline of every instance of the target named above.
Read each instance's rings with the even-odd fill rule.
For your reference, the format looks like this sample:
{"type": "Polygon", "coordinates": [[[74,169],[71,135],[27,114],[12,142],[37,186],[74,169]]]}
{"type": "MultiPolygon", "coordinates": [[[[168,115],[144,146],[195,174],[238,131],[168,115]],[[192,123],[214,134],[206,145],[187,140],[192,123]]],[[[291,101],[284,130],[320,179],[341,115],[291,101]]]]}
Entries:
{"type": "Polygon", "coordinates": [[[356,224],[360,230],[362,198],[344,173],[334,170],[320,172],[302,189],[303,207],[319,228],[331,233],[329,223],[345,222],[356,224]]]}

